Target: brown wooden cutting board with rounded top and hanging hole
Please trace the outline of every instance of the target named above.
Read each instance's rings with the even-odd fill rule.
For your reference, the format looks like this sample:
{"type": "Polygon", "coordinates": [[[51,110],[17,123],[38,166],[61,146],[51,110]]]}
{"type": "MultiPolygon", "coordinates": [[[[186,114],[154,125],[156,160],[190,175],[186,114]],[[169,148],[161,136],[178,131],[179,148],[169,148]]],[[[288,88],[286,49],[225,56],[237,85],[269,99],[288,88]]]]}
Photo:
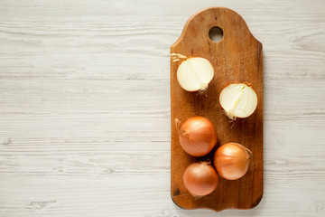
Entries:
{"type": "Polygon", "coordinates": [[[172,109],[172,187],[174,203],[184,209],[209,208],[251,209],[263,195],[263,61],[262,43],[250,33],[244,19],[224,7],[212,7],[190,17],[180,38],[172,44],[171,53],[209,60],[215,75],[203,94],[182,90],[177,81],[177,69],[181,61],[171,58],[171,109],[172,109]],[[218,26],[223,31],[219,42],[209,39],[209,30],[218,26]],[[257,109],[249,118],[233,123],[222,113],[218,102],[220,91],[228,83],[248,82],[258,99],[257,109]],[[215,149],[203,157],[185,153],[179,143],[174,119],[184,122],[187,118],[209,118],[217,129],[216,148],[228,142],[240,143],[253,152],[253,159],[245,176],[236,181],[219,177],[217,189],[199,200],[186,190],[182,175],[193,162],[213,159],[215,149]]]}

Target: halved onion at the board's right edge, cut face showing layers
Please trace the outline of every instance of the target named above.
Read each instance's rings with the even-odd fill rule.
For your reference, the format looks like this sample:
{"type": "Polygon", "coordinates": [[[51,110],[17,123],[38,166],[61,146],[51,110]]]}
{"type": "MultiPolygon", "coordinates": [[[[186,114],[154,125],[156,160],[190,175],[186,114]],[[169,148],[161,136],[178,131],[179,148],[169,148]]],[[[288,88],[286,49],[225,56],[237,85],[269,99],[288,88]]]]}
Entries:
{"type": "Polygon", "coordinates": [[[246,83],[229,84],[221,91],[219,102],[228,118],[247,118],[257,107],[257,95],[246,83]]]}

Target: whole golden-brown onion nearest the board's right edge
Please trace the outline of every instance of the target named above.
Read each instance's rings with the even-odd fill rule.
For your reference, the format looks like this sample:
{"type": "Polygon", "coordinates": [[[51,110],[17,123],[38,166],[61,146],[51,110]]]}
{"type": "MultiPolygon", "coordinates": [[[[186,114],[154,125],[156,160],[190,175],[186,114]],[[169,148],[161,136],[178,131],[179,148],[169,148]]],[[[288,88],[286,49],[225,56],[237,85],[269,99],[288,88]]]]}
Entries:
{"type": "Polygon", "coordinates": [[[218,175],[228,180],[237,180],[246,175],[252,156],[252,152],[245,146],[227,143],[218,147],[213,164],[218,175]]]}

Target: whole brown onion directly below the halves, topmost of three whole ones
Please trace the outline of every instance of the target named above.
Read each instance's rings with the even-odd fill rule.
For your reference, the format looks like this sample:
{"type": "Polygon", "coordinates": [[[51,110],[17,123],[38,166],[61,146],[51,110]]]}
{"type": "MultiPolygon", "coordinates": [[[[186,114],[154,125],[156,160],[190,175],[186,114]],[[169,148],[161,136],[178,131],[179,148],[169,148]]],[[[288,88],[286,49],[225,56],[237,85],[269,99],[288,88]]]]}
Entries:
{"type": "MultiPolygon", "coordinates": [[[[178,119],[175,121],[177,122],[178,119]]],[[[190,156],[208,155],[218,141],[216,128],[208,118],[189,118],[178,127],[178,131],[181,147],[190,156]]]]}

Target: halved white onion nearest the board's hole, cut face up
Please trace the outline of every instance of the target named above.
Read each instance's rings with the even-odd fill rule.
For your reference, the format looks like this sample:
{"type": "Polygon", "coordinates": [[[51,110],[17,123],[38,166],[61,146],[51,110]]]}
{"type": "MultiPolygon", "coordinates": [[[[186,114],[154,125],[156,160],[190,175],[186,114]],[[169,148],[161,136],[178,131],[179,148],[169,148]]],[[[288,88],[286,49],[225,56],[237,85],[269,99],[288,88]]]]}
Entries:
{"type": "Polygon", "coordinates": [[[213,75],[211,63],[201,57],[186,58],[177,70],[177,80],[181,88],[188,91],[206,90],[213,75]]]}

